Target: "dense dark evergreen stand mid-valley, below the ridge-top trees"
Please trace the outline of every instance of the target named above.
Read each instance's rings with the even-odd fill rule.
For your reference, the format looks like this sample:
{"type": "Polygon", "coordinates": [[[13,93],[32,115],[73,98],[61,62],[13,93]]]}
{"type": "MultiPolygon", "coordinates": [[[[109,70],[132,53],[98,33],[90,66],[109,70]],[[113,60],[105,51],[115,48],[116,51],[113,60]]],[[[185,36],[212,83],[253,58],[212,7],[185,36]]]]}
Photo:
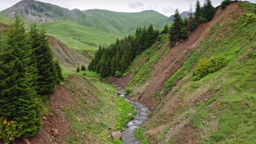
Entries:
{"type": "Polygon", "coordinates": [[[88,69],[96,71],[101,78],[110,75],[120,76],[137,55],[153,45],[158,35],[159,31],[154,29],[153,25],[149,25],[148,28],[138,27],[135,35],[117,39],[108,47],[100,46],[88,69]]]}

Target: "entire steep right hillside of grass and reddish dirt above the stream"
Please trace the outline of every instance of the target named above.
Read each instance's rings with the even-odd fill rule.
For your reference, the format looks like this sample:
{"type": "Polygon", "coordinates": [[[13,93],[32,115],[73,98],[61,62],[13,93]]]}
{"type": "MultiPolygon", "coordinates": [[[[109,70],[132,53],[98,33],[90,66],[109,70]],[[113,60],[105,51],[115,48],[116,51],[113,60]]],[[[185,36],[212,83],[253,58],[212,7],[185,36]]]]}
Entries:
{"type": "Polygon", "coordinates": [[[144,143],[254,143],[256,129],[255,4],[231,3],[190,37],[169,48],[168,35],[129,69],[130,97],[152,108],[135,135],[144,143]],[[200,59],[228,64],[199,81],[200,59]]]}

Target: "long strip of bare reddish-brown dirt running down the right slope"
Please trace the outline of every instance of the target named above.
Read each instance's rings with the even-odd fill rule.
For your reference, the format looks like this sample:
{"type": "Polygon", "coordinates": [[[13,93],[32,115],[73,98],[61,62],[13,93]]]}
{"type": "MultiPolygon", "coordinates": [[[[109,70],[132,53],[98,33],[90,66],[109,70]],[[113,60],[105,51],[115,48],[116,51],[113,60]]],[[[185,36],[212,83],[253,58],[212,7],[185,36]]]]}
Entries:
{"type": "MultiPolygon", "coordinates": [[[[234,14],[243,14],[237,2],[231,3],[225,10],[219,8],[213,20],[199,25],[193,32],[189,33],[188,39],[182,40],[181,43],[177,43],[172,47],[164,58],[153,65],[155,70],[153,70],[144,85],[134,88],[134,91],[139,93],[136,95],[137,100],[154,109],[158,102],[152,99],[152,97],[156,92],[160,91],[164,82],[182,67],[184,62],[188,60],[189,53],[195,52],[197,47],[201,45],[201,42],[210,35],[212,26],[217,23],[221,25],[232,19],[234,14]]],[[[122,85],[124,84],[122,83],[122,85]]]]}

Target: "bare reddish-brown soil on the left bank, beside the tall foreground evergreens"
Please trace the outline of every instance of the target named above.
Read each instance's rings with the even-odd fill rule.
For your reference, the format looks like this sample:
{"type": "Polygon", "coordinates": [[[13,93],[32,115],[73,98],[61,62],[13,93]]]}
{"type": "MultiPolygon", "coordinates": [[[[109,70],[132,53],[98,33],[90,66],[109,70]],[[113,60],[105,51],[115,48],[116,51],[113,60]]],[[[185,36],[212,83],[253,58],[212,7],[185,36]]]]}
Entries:
{"type": "MultiPolygon", "coordinates": [[[[63,109],[75,109],[76,111],[82,111],[83,107],[79,106],[80,100],[79,98],[84,98],[88,102],[87,106],[94,107],[98,104],[98,99],[95,97],[94,93],[91,93],[88,89],[88,84],[86,81],[82,80],[82,78],[78,78],[76,76],[71,76],[68,79],[69,85],[77,88],[75,89],[75,93],[71,92],[65,86],[58,85],[56,91],[53,94],[50,94],[49,97],[49,115],[44,116],[46,119],[43,119],[43,127],[39,130],[39,132],[30,137],[28,140],[33,143],[57,143],[56,139],[62,142],[66,142],[68,137],[75,136],[75,134],[71,130],[71,126],[67,120],[67,116],[63,109]],[[83,97],[83,94],[80,93],[78,89],[83,89],[83,92],[86,94],[86,98],[83,97]],[[59,131],[58,136],[53,135],[52,129],[57,129],[59,131]]],[[[82,117],[80,117],[82,118],[82,117]]],[[[86,119],[81,119],[81,121],[86,121],[86,119]]],[[[87,138],[87,135],[85,136],[87,138]]],[[[88,141],[85,139],[85,143],[88,141]]],[[[26,144],[24,140],[20,139],[15,143],[26,144]]]]}

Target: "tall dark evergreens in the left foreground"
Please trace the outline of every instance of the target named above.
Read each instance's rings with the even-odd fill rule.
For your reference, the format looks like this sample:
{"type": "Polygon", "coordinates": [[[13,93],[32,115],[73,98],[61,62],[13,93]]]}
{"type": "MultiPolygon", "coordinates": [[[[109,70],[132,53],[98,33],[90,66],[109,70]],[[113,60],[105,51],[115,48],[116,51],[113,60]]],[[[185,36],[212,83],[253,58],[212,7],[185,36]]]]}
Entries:
{"type": "Polygon", "coordinates": [[[1,35],[0,117],[16,123],[16,137],[30,137],[42,125],[42,96],[63,79],[61,67],[53,61],[45,31],[36,25],[27,33],[16,17],[1,35]]]}

